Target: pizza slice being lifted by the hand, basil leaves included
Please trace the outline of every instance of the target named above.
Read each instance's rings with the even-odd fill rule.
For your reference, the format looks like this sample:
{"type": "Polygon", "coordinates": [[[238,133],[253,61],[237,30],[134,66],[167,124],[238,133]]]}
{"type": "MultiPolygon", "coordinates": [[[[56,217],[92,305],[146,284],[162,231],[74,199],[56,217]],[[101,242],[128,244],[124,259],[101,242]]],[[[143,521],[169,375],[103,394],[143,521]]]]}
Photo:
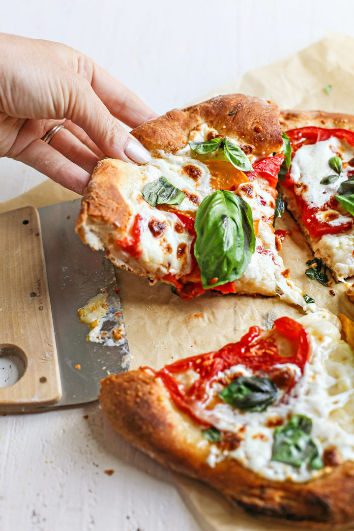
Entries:
{"type": "Polygon", "coordinates": [[[306,307],[273,228],[284,160],[275,104],[219,96],[132,134],[151,162],[98,162],[76,223],[84,243],[151,284],[168,282],[184,299],[205,290],[278,294],[306,307]]]}

